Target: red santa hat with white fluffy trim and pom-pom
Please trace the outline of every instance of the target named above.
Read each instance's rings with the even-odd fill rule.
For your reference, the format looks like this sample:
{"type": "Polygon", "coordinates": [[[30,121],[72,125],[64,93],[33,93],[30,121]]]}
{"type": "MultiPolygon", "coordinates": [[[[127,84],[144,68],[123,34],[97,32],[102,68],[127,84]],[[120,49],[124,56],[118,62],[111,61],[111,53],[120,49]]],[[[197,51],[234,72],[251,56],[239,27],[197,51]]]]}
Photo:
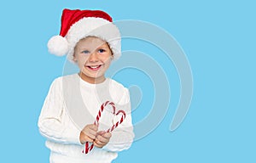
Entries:
{"type": "Polygon", "coordinates": [[[120,33],[112,18],[101,10],[64,9],[61,16],[61,32],[59,36],[49,39],[49,53],[57,56],[67,54],[73,60],[76,44],[84,37],[99,37],[108,42],[113,58],[121,54],[120,33]]]}

